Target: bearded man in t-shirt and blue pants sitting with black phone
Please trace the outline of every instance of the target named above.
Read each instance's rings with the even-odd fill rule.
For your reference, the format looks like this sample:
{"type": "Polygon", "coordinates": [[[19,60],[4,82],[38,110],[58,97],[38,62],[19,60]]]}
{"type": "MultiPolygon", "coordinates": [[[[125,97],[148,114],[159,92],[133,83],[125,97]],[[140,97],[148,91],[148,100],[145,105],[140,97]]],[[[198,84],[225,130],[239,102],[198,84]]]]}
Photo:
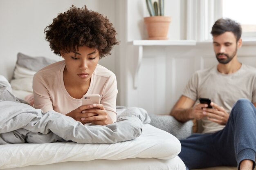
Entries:
{"type": "Polygon", "coordinates": [[[181,122],[202,120],[202,133],[180,141],[179,157],[189,169],[255,167],[256,69],[237,59],[237,49],[242,46],[241,32],[240,24],[233,20],[215,22],[211,34],[219,64],[196,71],[171,110],[170,115],[181,122]],[[196,104],[200,97],[211,98],[213,108],[196,104]]]}

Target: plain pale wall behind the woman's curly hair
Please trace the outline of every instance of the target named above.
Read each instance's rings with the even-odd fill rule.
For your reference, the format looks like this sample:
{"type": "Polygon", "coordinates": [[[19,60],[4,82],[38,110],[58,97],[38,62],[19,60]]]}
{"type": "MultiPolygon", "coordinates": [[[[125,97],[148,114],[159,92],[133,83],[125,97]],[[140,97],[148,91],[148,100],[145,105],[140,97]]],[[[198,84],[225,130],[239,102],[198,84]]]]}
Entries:
{"type": "MultiPolygon", "coordinates": [[[[50,50],[44,29],[72,4],[87,5],[115,26],[115,0],[0,0],[0,74],[11,79],[18,52],[61,60],[50,50]]],[[[115,49],[100,64],[115,72],[115,49]]]]}

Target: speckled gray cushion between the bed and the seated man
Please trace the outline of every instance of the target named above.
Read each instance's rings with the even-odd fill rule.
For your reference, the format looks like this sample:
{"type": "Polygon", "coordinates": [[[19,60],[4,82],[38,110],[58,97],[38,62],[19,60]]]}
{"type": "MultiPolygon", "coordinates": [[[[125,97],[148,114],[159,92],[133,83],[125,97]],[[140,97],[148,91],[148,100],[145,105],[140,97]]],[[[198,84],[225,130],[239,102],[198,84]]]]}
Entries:
{"type": "Polygon", "coordinates": [[[150,124],[171,133],[178,139],[186,139],[192,134],[193,121],[182,123],[170,115],[149,115],[150,124]]]}

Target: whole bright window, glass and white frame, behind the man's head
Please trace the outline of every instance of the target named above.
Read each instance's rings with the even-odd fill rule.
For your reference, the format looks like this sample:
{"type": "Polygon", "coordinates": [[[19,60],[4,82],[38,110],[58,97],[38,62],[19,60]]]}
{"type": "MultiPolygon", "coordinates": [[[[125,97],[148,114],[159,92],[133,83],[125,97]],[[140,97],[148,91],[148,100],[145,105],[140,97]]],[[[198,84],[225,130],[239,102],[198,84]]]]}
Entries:
{"type": "Polygon", "coordinates": [[[187,0],[186,39],[210,41],[214,22],[230,18],[241,24],[243,40],[256,40],[255,7],[254,0],[187,0]]]}

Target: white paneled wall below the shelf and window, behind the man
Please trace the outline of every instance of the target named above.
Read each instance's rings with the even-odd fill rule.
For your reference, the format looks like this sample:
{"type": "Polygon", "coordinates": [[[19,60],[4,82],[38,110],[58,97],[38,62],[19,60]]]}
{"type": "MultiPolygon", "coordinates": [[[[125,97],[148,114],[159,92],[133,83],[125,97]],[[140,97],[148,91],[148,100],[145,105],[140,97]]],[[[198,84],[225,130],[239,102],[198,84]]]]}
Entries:
{"type": "MultiPolygon", "coordinates": [[[[256,43],[245,42],[238,60],[256,67],[256,43]]],[[[142,107],[150,114],[168,115],[196,70],[218,64],[211,42],[195,46],[144,46],[138,87],[130,77],[128,106],[142,107]]]]}

